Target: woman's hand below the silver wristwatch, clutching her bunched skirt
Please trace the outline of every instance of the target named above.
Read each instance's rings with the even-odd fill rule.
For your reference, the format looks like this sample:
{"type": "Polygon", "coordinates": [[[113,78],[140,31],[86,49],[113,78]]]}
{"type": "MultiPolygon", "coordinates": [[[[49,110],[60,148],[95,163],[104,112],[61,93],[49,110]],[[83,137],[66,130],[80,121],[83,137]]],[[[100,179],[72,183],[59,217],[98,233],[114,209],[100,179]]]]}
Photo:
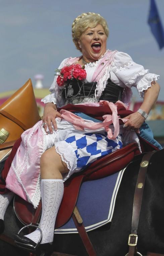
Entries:
{"type": "Polygon", "coordinates": [[[124,124],[124,129],[126,130],[134,130],[135,132],[139,132],[139,128],[145,121],[145,118],[138,112],[134,112],[126,117],[124,119],[128,119],[128,121],[124,124]]]}

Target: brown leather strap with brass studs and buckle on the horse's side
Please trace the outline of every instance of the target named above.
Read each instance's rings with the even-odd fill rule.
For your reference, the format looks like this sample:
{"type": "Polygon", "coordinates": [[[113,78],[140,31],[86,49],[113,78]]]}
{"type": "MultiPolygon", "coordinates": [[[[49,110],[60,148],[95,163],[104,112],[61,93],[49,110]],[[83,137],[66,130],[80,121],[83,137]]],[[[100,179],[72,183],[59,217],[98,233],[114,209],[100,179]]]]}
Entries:
{"type": "Polygon", "coordinates": [[[142,162],[140,164],[140,170],[138,174],[138,179],[135,186],[134,200],[133,200],[133,212],[132,212],[132,222],[131,222],[131,234],[128,239],[129,252],[128,256],[136,255],[136,245],[137,245],[137,230],[140,218],[141,204],[144,192],[145,178],[148,170],[148,165],[150,158],[156,151],[148,152],[143,156],[142,162]]]}

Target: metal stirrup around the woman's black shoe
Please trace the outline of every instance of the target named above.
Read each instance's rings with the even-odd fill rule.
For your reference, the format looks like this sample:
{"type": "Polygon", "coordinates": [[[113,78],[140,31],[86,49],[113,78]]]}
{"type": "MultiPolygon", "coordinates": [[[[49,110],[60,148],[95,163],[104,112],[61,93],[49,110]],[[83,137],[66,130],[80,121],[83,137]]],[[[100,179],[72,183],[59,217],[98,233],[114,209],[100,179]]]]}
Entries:
{"type": "Polygon", "coordinates": [[[27,228],[27,227],[38,228],[39,231],[40,231],[40,233],[41,233],[40,238],[39,238],[39,241],[38,241],[38,243],[36,243],[36,246],[31,245],[31,244],[27,244],[27,243],[21,243],[21,242],[18,242],[18,241],[16,241],[16,240],[15,240],[15,244],[16,244],[18,247],[22,248],[22,249],[35,252],[35,251],[38,249],[38,246],[40,245],[40,242],[41,242],[41,240],[42,240],[42,230],[40,229],[39,224],[38,224],[38,226],[37,226],[37,225],[29,224],[29,225],[27,225],[27,226],[25,226],[25,227],[22,227],[22,228],[18,231],[17,234],[19,235],[20,232],[21,232],[23,229],[27,228]]]}

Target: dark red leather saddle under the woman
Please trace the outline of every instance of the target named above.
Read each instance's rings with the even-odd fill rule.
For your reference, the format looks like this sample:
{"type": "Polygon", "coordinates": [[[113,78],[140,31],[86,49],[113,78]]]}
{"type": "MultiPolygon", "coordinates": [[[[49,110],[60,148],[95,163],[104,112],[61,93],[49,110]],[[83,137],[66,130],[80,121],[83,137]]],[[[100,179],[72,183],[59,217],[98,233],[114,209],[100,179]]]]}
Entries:
{"type": "MultiPolygon", "coordinates": [[[[137,154],[140,154],[138,144],[131,143],[98,159],[83,172],[73,174],[66,180],[64,182],[64,195],[58,211],[55,229],[63,226],[71,218],[83,181],[100,179],[120,171],[126,167],[137,154]]],[[[39,219],[41,214],[41,202],[38,208],[34,209],[31,203],[24,201],[16,195],[14,198],[14,210],[21,223],[29,225],[39,219]]]]}

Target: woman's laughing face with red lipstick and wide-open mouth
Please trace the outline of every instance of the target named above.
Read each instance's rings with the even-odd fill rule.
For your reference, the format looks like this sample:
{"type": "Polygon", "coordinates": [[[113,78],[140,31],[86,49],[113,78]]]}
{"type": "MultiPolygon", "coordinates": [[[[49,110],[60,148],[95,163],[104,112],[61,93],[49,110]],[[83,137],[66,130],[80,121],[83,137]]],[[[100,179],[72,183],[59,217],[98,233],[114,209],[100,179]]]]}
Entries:
{"type": "Polygon", "coordinates": [[[92,62],[101,58],[106,52],[107,36],[103,27],[98,24],[95,28],[88,28],[78,40],[81,45],[83,59],[92,62]]]}

